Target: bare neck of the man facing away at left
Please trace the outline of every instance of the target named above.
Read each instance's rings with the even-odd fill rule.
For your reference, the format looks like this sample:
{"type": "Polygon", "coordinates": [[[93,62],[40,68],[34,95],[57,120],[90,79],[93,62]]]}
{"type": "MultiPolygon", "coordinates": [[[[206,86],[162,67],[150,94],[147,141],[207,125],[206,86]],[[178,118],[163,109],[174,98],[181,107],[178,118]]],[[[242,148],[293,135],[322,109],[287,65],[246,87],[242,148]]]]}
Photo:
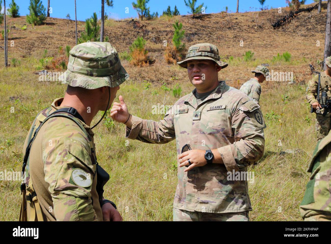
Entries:
{"type": "Polygon", "coordinates": [[[91,103],[90,99],[78,98],[76,95],[65,94],[65,97],[60,106],[68,106],[77,110],[85,123],[90,126],[94,116],[98,113],[98,109],[91,103]]]}

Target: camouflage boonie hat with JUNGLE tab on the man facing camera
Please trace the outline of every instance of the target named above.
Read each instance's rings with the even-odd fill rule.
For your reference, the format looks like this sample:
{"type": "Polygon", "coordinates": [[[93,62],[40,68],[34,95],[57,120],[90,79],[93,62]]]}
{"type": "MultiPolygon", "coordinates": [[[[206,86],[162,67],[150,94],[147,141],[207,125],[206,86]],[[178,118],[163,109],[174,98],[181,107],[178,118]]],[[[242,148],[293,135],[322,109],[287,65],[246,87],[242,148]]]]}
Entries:
{"type": "Polygon", "coordinates": [[[187,51],[185,60],[177,62],[177,64],[179,64],[180,67],[187,68],[188,60],[201,59],[213,60],[215,63],[217,63],[218,66],[221,66],[222,69],[228,66],[227,63],[220,60],[217,47],[211,43],[198,43],[190,46],[187,51]]]}

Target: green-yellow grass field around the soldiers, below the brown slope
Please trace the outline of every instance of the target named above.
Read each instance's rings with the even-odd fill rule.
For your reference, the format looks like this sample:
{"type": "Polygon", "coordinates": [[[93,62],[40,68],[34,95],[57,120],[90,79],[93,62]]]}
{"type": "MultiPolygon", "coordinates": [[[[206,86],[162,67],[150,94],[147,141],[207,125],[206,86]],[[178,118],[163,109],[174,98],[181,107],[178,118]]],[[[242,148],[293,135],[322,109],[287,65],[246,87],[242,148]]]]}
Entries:
{"type": "MultiPolygon", "coordinates": [[[[30,124],[40,110],[49,107],[53,99],[62,97],[66,89],[60,82],[38,81],[38,75],[30,70],[35,63],[36,59],[26,58],[22,59],[20,67],[0,69],[0,77],[6,77],[0,81],[0,123],[3,125],[0,129],[0,171],[21,170],[23,144],[30,124]],[[14,113],[10,113],[11,107],[14,107],[14,113]]],[[[118,95],[124,97],[131,114],[158,121],[163,115],[152,114],[152,106],[163,101],[171,105],[178,99],[161,87],[161,84],[150,84],[149,89],[145,89],[146,84],[128,80],[120,86],[118,95]]],[[[174,85],[168,87],[175,88],[174,85]]],[[[193,88],[188,81],[181,81],[180,87],[180,96],[193,88]]],[[[249,167],[249,171],[255,172],[255,181],[249,184],[253,207],[250,219],[301,220],[298,208],[309,177],[307,160],[316,144],[314,116],[307,109],[304,85],[275,85],[275,89],[263,92],[262,84],[260,105],[267,125],[265,152],[256,165],[249,167]],[[281,126],[277,115],[282,113],[282,95],[289,98],[281,126]],[[305,120],[306,115],[310,121],[305,120]],[[300,151],[284,156],[267,153],[286,149],[300,151]]],[[[99,112],[92,124],[101,116],[99,112]]],[[[94,133],[98,162],[110,174],[105,198],[117,204],[123,219],[172,220],[177,185],[175,141],[154,145],[128,140],[123,136],[124,125],[113,123],[109,118],[100,123],[94,133]]],[[[19,186],[20,182],[0,181],[1,220],[18,219],[19,186]]]]}

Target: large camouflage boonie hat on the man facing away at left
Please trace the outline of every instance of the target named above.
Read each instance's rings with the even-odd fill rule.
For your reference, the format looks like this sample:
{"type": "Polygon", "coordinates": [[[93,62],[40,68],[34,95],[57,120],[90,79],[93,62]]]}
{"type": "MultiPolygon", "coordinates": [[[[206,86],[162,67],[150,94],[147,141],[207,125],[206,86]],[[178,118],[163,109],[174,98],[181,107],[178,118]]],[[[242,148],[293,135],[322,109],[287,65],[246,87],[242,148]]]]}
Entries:
{"type": "Polygon", "coordinates": [[[126,71],[118,53],[109,42],[84,42],[70,50],[68,69],[63,84],[97,89],[117,87],[125,81],[126,71]]]}

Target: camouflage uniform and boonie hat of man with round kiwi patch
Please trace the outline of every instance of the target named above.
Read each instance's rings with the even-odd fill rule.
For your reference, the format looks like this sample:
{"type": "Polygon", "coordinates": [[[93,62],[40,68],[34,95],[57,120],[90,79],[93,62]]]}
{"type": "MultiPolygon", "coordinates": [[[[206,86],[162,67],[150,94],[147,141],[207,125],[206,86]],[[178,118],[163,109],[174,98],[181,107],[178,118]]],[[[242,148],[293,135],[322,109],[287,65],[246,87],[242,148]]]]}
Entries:
{"type": "MultiPolygon", "coordinates": [[[[125,75],[117,51],[110,43],[85,42],[71,49],[68,70],[62,80],[70,86],[97,89],[117,87],[125,81],[125,75]]],[[[51,113],[64,108],[62,101],[63,98],[54,100],[50,108],[38,114],[24,148],[31,139],[31,130],[35,130],[51,113]]],[[[66,112],[63,114],[73,117],[66,112]]],[[[64,117],[50,118],[40,127],[25,168],[26,185],[33,184],[43,220],[102,221],[96,191],[94,133],[83,121],[73,119],[77,123],[64,117]]],[[[29,216],[33,208],[31,203],[27,204],[29,220],[34,218],[29,216]]]]}

